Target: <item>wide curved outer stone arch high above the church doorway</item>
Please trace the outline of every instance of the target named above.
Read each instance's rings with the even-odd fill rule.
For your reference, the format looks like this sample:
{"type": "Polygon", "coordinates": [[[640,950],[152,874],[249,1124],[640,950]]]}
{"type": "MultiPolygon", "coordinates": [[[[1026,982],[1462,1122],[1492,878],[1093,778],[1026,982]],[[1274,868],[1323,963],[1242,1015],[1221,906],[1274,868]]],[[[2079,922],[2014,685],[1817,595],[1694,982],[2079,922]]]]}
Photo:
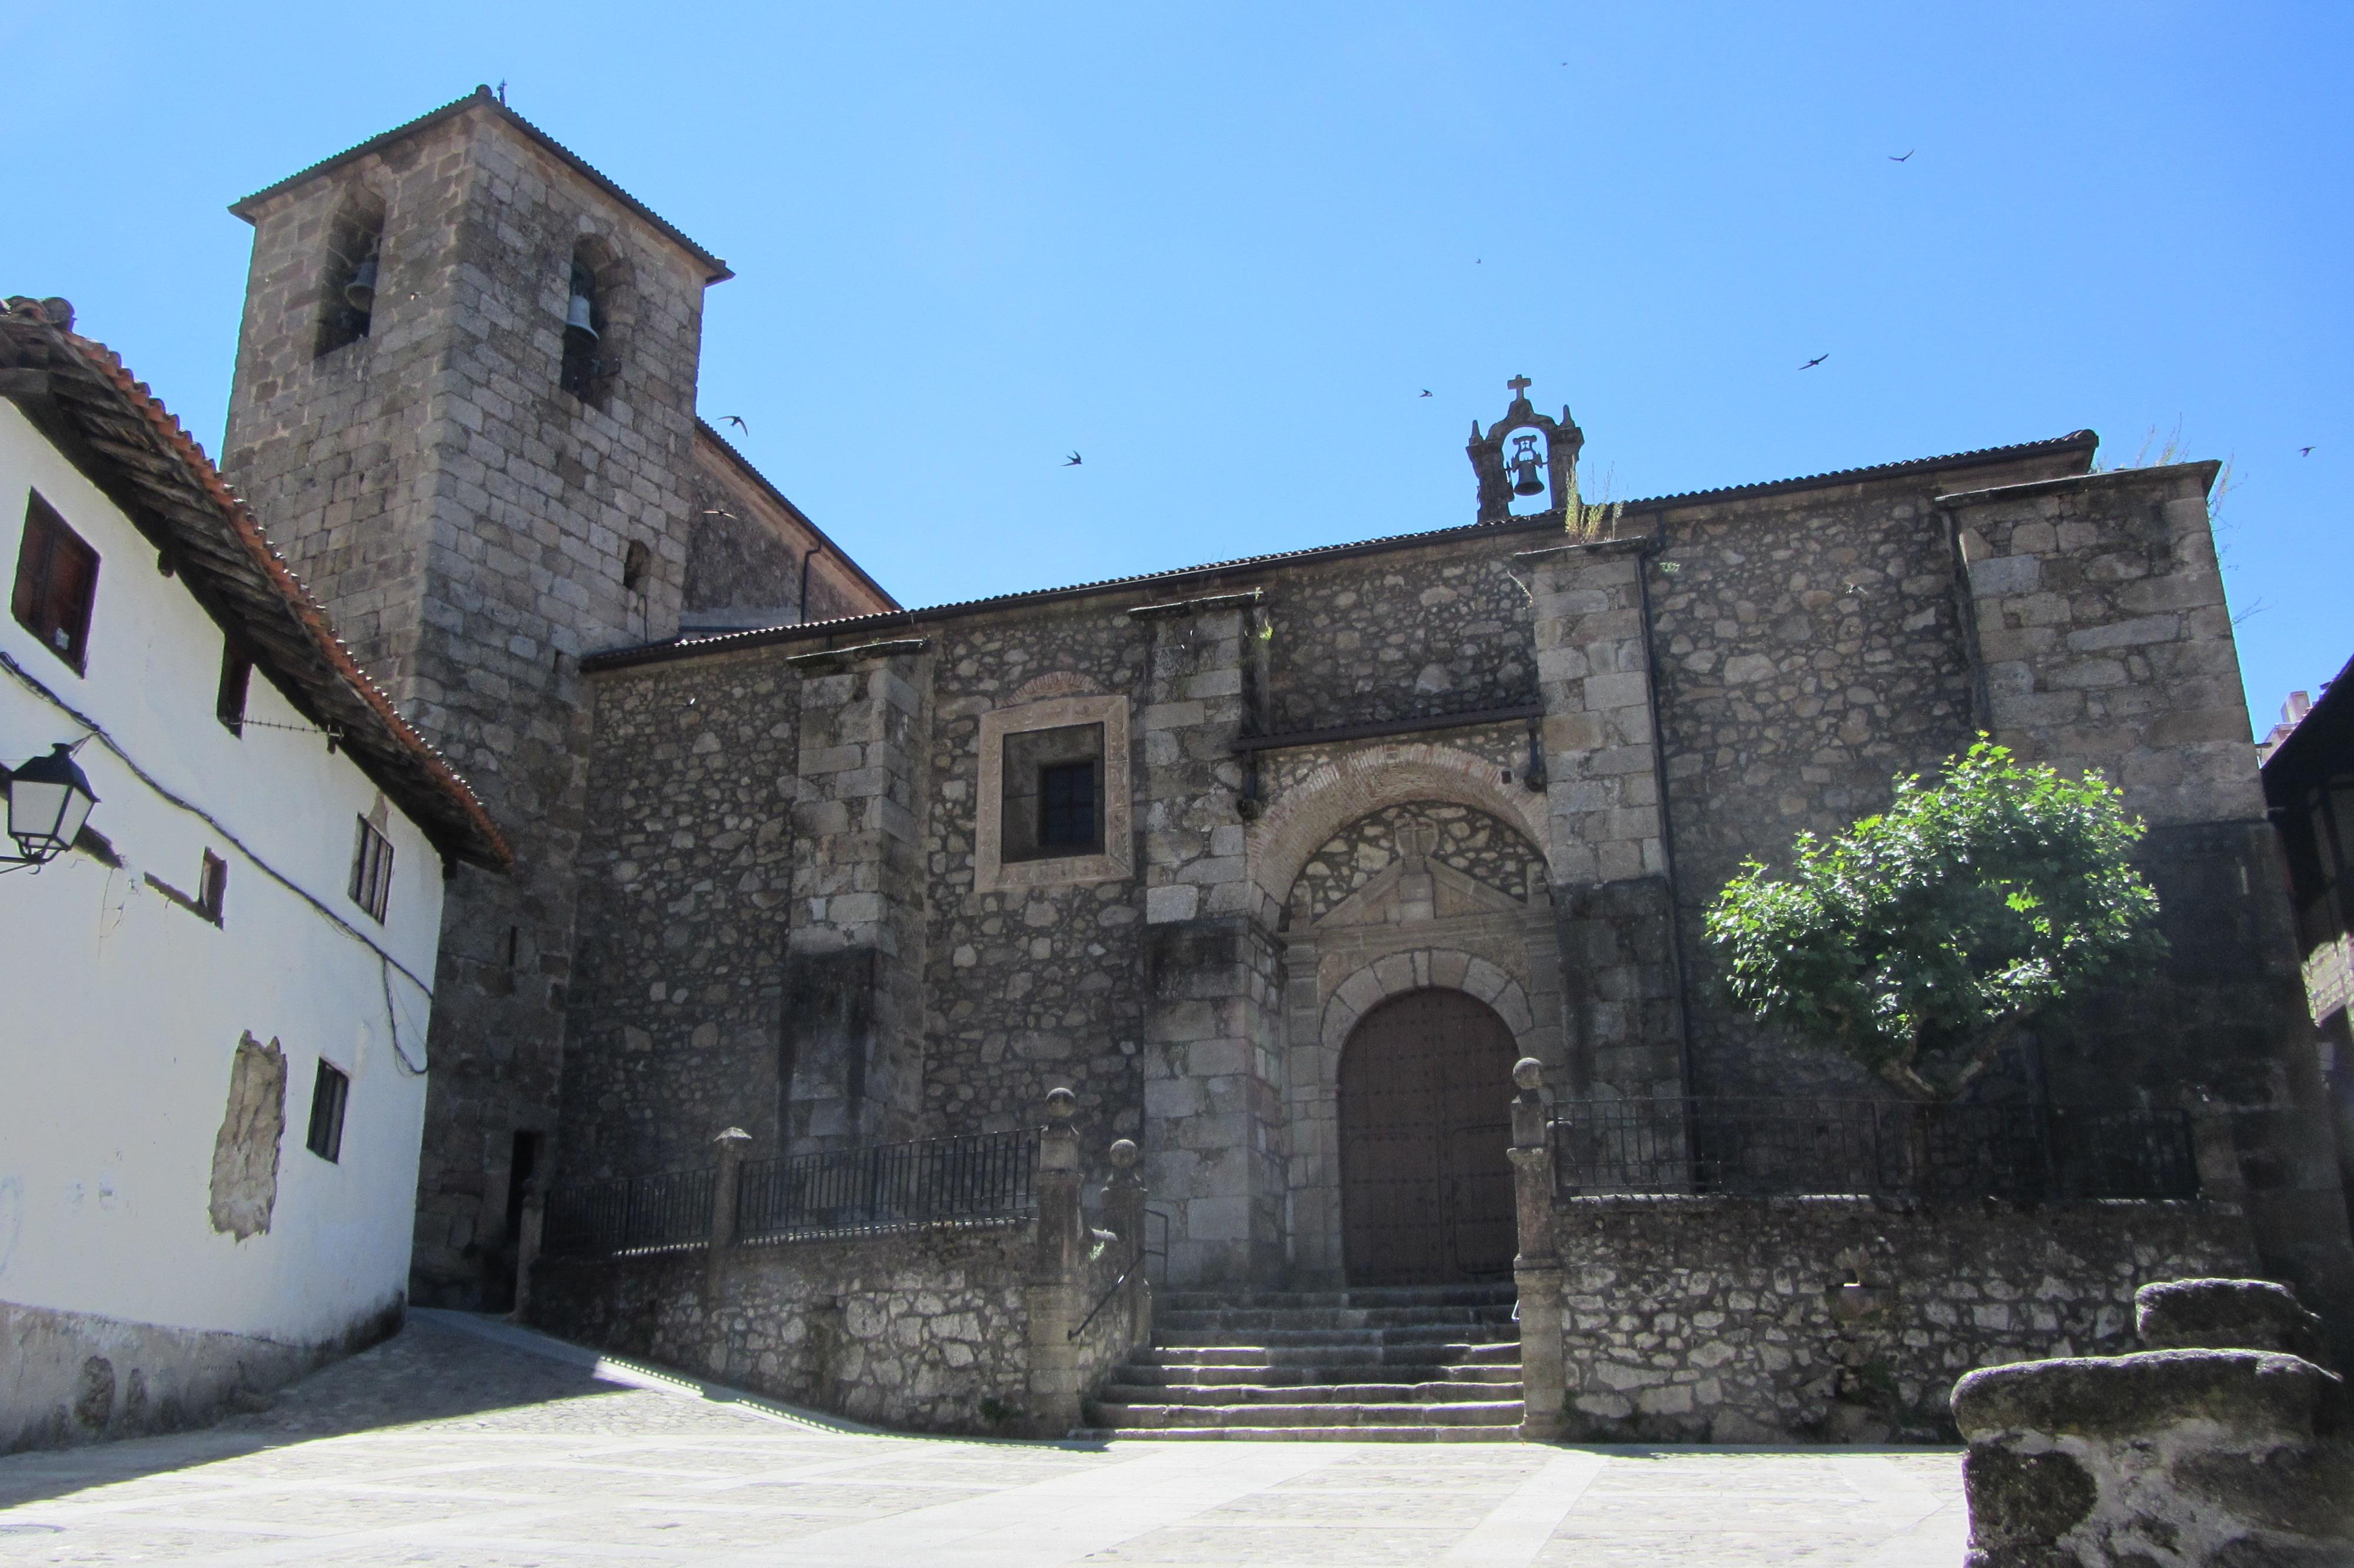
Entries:
{"type": "Polygon", "coordinates": [[[1344,826],[1389,805],[1445,800],[1521,829],[1540,852],[1551,845],[1544,796],[1497,777],[1495,760],[1434,742],[1365,746],[1295,779],[1250,826],[1250,876],[1281,909],[1309,857],[1344,826]]]}

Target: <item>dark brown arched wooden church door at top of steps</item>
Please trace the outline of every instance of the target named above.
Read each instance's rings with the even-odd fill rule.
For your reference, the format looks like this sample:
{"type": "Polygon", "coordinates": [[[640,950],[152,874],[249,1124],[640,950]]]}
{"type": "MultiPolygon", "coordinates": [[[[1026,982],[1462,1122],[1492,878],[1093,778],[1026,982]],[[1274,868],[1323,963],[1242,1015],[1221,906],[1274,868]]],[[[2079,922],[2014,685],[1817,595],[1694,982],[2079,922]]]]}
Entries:
{"type": "Polygon", "coordinates": [[[1462,991],[1394,996],[1339,1059],[1342,1236],[1351,1285],[1507,1278],[1511,1029],[1462,991]]]}

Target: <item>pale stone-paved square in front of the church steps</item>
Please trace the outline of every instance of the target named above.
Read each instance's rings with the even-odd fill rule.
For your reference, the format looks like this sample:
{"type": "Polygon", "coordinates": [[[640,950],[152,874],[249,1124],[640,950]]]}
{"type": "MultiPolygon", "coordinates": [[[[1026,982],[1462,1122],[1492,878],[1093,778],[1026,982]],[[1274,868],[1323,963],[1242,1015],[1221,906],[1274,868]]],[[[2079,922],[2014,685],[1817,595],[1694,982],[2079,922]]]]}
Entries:
{"type": "Polygon", "coordinates": [[[205,1431],[0,1457],[0,1563],[1961,1561],[1954,1450],[977,1443],[523,1330],[400,1337],[205,1431]]]}

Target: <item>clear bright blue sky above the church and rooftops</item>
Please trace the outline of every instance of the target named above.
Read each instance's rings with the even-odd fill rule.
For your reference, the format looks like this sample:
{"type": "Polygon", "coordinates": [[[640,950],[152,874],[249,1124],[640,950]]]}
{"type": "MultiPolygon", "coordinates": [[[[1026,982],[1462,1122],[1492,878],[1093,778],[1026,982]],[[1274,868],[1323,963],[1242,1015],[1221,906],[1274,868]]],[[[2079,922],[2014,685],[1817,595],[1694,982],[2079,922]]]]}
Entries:
{"type": "Polygon", "coordinates": [[[2180,431],[2257,727],[2354,655],[2349,7],[0,16],[0,290],[210,447],[224,207],[506,80],[737,268],[704,414],[906,603],[1469,523],[1525,372],[1589,494],[2180,431]]]}

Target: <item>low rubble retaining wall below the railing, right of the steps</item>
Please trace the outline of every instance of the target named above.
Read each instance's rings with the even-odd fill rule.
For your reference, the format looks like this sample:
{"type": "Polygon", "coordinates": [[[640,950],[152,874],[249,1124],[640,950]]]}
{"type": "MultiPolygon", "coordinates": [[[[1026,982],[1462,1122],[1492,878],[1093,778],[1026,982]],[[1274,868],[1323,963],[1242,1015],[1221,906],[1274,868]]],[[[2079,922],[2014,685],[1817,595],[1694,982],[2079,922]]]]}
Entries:
{"type": "Polygon", "coordinates": [[[2133,1293],[2246,1274],[2208,1203],[1563,1198],[1568,1436],[1951,1443],[1980,1366],[2133,1347],[2133,1293]]]}

